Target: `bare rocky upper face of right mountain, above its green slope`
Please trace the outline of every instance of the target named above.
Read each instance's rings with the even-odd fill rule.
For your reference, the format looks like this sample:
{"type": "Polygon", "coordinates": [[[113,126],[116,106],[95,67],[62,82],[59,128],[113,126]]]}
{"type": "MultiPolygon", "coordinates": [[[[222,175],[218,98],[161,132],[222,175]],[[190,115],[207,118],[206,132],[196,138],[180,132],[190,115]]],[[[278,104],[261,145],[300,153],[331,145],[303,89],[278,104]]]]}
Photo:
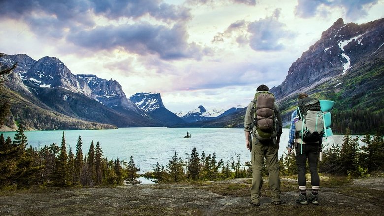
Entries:
{"type": "Polygon", "coordinates": [[[362,59],[383,49],[383,41],[384,19],[357,25],[344,24],[340,18],[292,64],[284,82],[271,92],[281,99],[348,74],[362,59]]]}

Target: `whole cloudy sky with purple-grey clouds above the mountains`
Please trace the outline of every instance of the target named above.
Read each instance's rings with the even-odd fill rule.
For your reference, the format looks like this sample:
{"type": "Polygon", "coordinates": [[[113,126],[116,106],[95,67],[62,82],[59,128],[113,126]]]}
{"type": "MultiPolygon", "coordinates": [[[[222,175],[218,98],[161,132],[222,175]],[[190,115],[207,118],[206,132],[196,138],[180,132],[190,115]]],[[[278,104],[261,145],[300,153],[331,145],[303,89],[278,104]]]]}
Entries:
{"type": "Polygon", "coordinates": [[[172,112],[245,107],[281,84],[338,18],[384,17],[384,0],[0,0],[0,52],[57,57],[160,93],[172,112]]]}

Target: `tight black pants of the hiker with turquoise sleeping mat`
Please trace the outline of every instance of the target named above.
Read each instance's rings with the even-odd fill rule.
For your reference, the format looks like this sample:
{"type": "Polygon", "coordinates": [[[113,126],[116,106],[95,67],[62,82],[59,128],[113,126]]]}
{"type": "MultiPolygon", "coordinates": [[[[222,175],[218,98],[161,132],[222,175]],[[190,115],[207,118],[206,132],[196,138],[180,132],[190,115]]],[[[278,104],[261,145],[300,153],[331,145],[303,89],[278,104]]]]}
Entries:
{"type": "Polygon", "coordinates": [[[301,144],[297,144],[296,148],[296,165],[297,165],[297,178],[299,182],[299,189],[306,189],[305,179],[305,163],[308,159],[309,171],[311,173],[311,186],[312,189],[318,190],[320,185],[319,173],[318,173],[318,157],[319,157],[319,144],[318,143],[306,143],[303,144],[302,154],[301,144]]]}

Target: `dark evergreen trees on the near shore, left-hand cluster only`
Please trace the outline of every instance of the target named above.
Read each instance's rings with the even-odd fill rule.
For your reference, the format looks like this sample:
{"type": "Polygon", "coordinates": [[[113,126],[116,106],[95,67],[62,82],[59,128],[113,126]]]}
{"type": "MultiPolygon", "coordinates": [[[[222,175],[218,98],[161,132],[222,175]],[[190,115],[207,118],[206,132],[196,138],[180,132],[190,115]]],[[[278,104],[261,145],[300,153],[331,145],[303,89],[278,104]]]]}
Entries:
{"type": "Polygon", "coordinates": [[[67,149],[64,131],[60,146],[52,143],[39,149],[27,148],[24,131],[20,125],[13,140],[0,136],[0,189],[140,183],[132,156],[128,165],[119,158],[108,160],[99,142],[96,146],[92,142],[83,156],[81,136],[73,153],[72,148],[67,149]]]}

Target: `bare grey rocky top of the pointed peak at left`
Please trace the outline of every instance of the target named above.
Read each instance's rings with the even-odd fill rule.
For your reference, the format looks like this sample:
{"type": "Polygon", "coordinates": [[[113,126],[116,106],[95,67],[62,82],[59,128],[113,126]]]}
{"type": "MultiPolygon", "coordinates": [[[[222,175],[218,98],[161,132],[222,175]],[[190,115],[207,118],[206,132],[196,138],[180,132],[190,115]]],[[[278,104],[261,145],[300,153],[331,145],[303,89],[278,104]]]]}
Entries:
{"type": "Polygon", "coordinates": [[[55,57],[43,57],[23,74],[26,85],[33,87],[63,87],[75,93],[91,96],[91,89],[55,57]]]}

